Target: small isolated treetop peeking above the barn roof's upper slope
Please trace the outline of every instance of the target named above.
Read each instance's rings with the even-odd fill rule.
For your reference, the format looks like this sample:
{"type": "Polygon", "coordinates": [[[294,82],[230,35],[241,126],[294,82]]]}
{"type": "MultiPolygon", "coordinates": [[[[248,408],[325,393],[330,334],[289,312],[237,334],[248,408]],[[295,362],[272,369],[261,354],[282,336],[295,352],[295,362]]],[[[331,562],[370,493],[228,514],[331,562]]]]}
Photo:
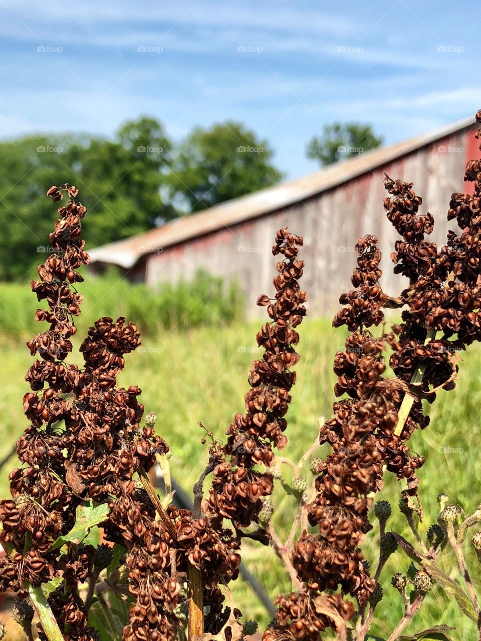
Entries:
{"type": "Polygon", "coordinates": [[[321,166],[359,156],[364,151],[376,149],[383,142],[368,124],[333,122],[325,125],[321,137],[314,136],[307,144],[308,158],[318,160],[321,166]]]}

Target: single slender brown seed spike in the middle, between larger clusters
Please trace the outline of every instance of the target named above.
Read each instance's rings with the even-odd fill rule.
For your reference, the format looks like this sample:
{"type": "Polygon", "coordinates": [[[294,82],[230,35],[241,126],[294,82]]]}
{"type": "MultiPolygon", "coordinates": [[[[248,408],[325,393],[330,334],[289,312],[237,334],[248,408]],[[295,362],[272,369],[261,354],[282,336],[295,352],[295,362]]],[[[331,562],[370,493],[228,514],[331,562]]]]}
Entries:
{"type": "Polygon", "coordinates": [[[258,463],[269,467],[274,459],[272,445],[282,449],[287,444],[284,435],[287,427],[285,413],[296,382],[296,372],[291,370],[299,360],[294,346],[299,334],[294,329],[305,316],[303,303],[307,294],[300,290],[298,279],[302,276],[304,262],[298,260],[302,238],[287,229],[276,234],[273,254],[283,260],[276,267],[274,300],[266,295],[257,304],[267,306],[271,322],[262,326],[257,344],[264,347],[262,360],[255,360],[249,372],[251,389],[244,400],[247,412],[236,414],[227,429],[228,442],[224,448],[230,461],[224,461],[214,470],[207,511],[217,526],[222,519],[230,519],[239,528],[258,522],[262,510],[262,497],[272,493],[273,478],[255,469],[258,463]]]}

